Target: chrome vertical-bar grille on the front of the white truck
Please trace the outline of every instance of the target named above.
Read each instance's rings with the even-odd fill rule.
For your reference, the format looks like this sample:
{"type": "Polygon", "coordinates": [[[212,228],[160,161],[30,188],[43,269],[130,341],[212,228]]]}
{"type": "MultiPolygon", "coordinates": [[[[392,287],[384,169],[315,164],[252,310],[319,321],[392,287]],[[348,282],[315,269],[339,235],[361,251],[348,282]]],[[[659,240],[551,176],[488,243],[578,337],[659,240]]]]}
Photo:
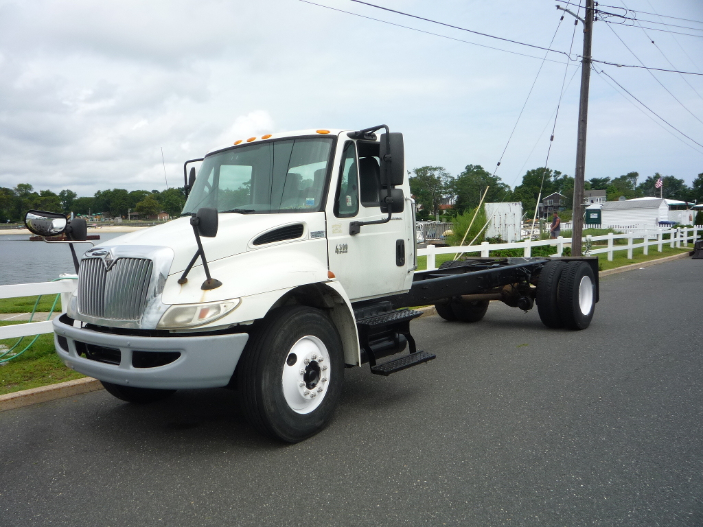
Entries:
{"type": "Polygon", "coordinates": [[[105,270],[100,258],[81,261],[78,311],[116,320],[139,320],[146,306],[153,263],[145,258],[118,258],[105,270]]]}

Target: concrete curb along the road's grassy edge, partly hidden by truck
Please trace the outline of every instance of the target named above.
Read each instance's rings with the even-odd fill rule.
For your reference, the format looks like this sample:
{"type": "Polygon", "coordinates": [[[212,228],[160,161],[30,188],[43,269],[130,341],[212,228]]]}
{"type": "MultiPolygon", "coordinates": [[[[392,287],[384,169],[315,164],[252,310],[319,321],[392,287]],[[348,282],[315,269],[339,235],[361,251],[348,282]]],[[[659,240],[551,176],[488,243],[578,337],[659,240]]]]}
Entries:
{"type": "MultiPolygon", "coordinates": [[[[691,252],[682,252],[681,254],[673,254],[673,256],[666,256],[665,258],[659,258],[657,260],[632,263],[628,266],[608,269],[607,271],[600,271],[598,273],[598,277],[602,278],[603,276],[625,273],[626,271],[634,271],[640,267],[654,266],[657,263],[681,260],[684,258],[689,258],[690,255],[691,252]]],[[[423,314],[418,318],[437,315],[437,309],[435,309],[434,306],[415,308],[415,311],[423,312],[423,314]]],[[[39,388],[6,393],[6,395],[0,396],[0,412],[21,408],[22,406],[34,405],[37,403],[46,403],[46,401],[53,401],[54,399],[76,396],[81,393],[88,393],[89,391],[102,389],[103,385],[100,381],[98,381],[98,379],[85,377],[84,379],[75,379],[73,381],[60,382],[58,384],[49,384],[49,386],[40,386],[39,388]]]]}

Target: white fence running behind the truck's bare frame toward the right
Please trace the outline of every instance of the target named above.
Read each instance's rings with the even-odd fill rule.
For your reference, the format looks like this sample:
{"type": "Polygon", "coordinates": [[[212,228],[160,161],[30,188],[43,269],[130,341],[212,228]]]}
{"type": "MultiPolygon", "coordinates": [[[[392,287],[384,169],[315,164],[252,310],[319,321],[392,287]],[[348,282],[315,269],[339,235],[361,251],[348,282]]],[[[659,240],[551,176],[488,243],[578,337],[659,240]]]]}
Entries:
{"type": "MultiPolygon", "coordinates": [[[[585,251],[588,245],[591,245],[591,249],[588,251],[589,256],[595,256],[596,254],[607,253],[608,260],[612,261],[613,253],[617,251],[627,251],[628,259],[632,259],[633,249],[643,248],[644,254],[648,254],[649,247],[652,245],[657,246],[657,251],[662,252],[662,247],[665,243],[668,243],[670,247],[688,247],[688,243],[695,242],[698,238],[698,233],[703,233],[703,226],[695,226],[688,228],[640,228],[638,230],[631,230],[624,234],[613,234],[608,233],[602,236],[591,236],[588,235],[586,238],[582,238],[582,249],[585,251]],[[664,235],[669,234],[670,239],[664,240],[664,235]],[[642,242],[635,243],[635,240],[642,240],[642,242]],[[627,240],[627,245],[615,245],[614,240],[627,240]],[[606,242],[605,247],[600,247],[600,243],[606,242]]],[[[489,243],[483,242],[480,245],[470,245],[463,247],[435,247],[434,245],[427,245],[425,249],[418,249],[418,256],[427,256],[427,270],[432,271],[437,269],[436,259],[437,254],[468,254],[475,255],[475,253],[480,253],[479,256],[482,258],[488,258],[491,251],[498,251],[501,249],[523,249],[523,256],[529,258],[531,256],[532,247],[540,247],[543,245],[552,245],[555,247],[555,253],[551,256],[562,256],[564,251],[564,244],[570,244],[572,238],[563,238],[560,236],[555,240],[523,240],[521,242],[512,243],[489,243]]]]}

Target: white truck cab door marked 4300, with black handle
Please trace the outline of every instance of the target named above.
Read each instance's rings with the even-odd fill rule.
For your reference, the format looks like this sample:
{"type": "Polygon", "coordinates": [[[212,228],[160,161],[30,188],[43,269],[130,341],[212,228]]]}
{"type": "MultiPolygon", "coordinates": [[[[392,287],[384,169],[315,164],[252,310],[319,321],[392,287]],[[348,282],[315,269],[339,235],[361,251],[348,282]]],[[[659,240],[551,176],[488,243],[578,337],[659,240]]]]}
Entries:
{"type": "Polygon", "coordinates": [[[349,235],[352,221],[387,216],[380,207],[385,190],[380,185],[378,143],[347,140],[339,141],[337,148],[335,159],[340,163],[333,167],[327,210],[330,271],[352,301],[403,291],[413,266],[408,259],[414,259],[406,226],[412,210],[406,204],[404,212],[393,214],[388,223],[365,225],[359,234],[349,235]]]}

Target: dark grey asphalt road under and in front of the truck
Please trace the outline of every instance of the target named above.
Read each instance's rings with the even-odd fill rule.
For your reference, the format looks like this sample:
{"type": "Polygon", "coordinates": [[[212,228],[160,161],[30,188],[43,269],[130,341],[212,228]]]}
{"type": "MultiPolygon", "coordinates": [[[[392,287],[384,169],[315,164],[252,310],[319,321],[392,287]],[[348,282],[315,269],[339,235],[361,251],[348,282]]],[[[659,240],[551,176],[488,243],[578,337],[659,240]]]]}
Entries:
{"type": "Polygon", "coordinates": [[[491,304],[414,324],[427,365],[348,370],[328,429],[254,433],[236,393],[105,391],[0,413],[0,525],[700,526],[703,261],[601,280],[588,330],[491,304]]]}

